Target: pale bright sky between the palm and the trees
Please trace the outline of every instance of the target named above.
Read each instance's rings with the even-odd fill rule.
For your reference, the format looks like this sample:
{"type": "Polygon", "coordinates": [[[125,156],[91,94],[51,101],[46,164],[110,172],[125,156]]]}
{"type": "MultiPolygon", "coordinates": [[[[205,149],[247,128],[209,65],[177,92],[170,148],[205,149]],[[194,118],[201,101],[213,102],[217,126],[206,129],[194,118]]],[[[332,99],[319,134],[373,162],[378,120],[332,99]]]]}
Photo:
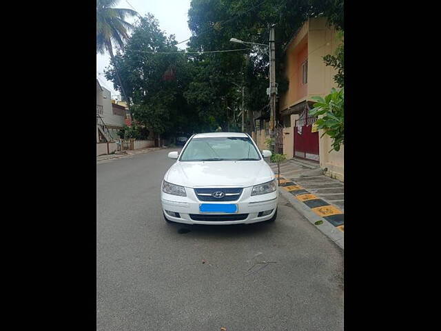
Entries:
{"type": "MultiPolygon", "coordinates": [[[[116,8],[134,9],[144,16],[147,12],[153,14],[159,21],[159,28],[165,31],[165,34],[174,34],[176,41],[189,39],[192,35],[187,24],[187,12],[190,8],[191,0],[120,0],[115,6],[116,8]]],[[[134,23],[135,19],[127,19],[130,23],[134,23]]],[[[181,43],[177,47],[185,48],[186,44],[181,43]]],[[[107,81],[104,77],[104,69],[109,66],[110,56],[108,54],[96,54],[96,78],[101,86],[110,90],[112,98],[119,95],[113,88],[113,83],[107,81]]]]}

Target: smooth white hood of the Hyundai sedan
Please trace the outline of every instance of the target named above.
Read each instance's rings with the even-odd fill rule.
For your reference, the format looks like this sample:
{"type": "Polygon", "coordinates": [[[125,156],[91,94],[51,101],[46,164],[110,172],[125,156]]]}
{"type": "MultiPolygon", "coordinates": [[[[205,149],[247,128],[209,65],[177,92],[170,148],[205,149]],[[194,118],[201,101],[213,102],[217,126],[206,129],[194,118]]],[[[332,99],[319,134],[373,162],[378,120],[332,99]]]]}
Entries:
{"type": "Polygon", "coordinates": [[[262,161],[176,162],[165,181],[187,188],[248,187],[274,179],[274,172],[262,161]]]}

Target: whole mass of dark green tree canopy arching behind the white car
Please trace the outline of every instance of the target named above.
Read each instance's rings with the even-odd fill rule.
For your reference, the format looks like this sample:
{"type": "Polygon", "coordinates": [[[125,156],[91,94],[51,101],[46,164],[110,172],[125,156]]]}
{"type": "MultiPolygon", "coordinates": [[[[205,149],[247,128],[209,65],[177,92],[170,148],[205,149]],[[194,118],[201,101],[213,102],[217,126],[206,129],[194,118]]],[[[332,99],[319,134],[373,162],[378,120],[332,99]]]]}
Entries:
{"type": "Polygon", "coordinates": [[[325,16],[342,30],[342,8],[342,0],[192,0],[186,52],[148,14],[105,74],[115,88],[127,90],[134,118],[156,132],[236,131],[243,111],[250,131],[252,112],[268,110],[269,57],[265,47],[229,40],[267,44],[268,26],[276,23],[276,77],[284,92],[283,46],[308,17],[325,16]]]}

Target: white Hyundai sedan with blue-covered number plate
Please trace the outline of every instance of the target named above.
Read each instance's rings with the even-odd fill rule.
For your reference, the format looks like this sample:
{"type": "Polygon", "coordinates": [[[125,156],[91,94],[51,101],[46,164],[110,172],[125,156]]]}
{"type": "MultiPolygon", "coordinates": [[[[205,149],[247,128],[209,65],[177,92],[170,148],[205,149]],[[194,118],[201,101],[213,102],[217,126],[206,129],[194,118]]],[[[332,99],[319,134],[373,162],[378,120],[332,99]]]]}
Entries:
{"type": "Polygon", "coordinates": [[[165,173],[161,203],[166,221],[187,224],[239,224],[274,221],[278,183],[245,133],[194,134],[165,173]]]}

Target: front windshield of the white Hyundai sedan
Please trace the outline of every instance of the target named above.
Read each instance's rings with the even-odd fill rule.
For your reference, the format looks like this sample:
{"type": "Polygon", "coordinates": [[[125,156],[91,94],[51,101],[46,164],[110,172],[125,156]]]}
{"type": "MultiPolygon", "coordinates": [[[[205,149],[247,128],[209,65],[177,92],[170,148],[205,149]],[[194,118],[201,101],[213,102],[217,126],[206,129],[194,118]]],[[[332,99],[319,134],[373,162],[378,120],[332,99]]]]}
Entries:
{"type": "Polygon", "coordinates": [[[258,161],[259,152],[247,137],[193,138],[179,161],[258,161]]]}

